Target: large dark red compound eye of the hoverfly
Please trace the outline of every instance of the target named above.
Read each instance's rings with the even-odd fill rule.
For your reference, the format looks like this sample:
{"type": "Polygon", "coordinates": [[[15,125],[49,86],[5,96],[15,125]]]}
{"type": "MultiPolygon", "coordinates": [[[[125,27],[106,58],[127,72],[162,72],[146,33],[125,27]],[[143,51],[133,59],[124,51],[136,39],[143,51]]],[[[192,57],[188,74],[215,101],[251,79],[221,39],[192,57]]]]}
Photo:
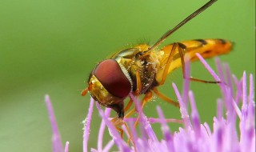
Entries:
{"type": "Polygon", "coordinates": [[[124,98],[130,93],[130,81],[114,59],[100,62],[94,70],[94,75],[110,94],[124,98]]]}

